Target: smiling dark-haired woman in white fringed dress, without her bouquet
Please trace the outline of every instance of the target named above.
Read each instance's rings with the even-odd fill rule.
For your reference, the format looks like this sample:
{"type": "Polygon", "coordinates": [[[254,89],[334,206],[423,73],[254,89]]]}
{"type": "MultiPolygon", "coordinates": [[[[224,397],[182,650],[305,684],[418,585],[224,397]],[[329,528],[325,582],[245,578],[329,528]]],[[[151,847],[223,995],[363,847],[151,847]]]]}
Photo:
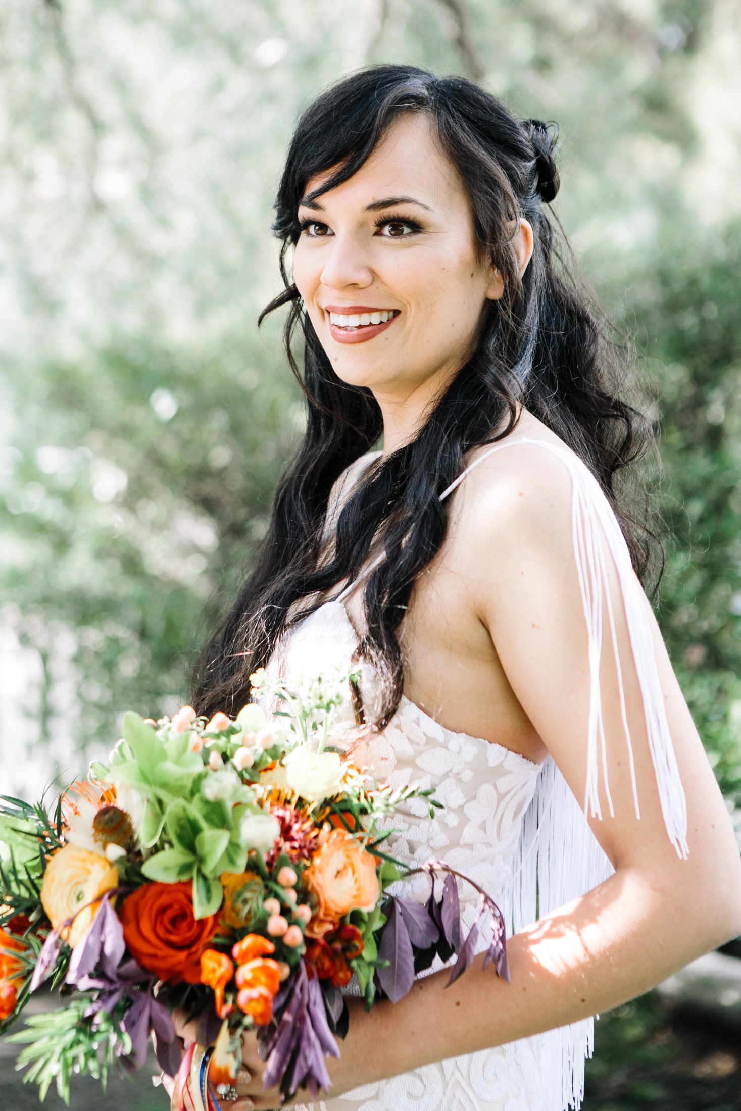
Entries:
{"type": "MultiPolygon", "coordinates": [[[[391,852],[475,878],[512,932],[510,984],[479,958],[448,990],[433,969],[395,1005],[352,1000],[328,1111],[578,1107],[591,1017],[741,931],[613,482],[643,422],[557,264],[551,146],[462,78],[382,66],[307,109],[278,192],[266,311],[290,306],[297,373],[302,332],[308,426],[196,705],[237,712],[262,664],[361,661],[362,762],[445,808],[400,815],[391,852]]],[[[251,1038],[244,1062],[224,1107],[279,1104],[251,1038]]]]}

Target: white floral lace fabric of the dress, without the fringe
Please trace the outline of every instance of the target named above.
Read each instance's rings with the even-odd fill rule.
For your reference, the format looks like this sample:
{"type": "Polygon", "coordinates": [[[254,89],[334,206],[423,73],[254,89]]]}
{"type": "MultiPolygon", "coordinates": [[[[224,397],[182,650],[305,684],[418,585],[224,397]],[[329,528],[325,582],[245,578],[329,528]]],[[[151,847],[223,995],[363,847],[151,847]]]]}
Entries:
{"type": "MultiPolygon", "coordinates": [[[[271,667],[287,675],[347,667],[354,631],[340,603],[328,603],[294,629],[271,667]]],[[[372,677],[363,673],[363,700],[372,677]]],[[[389,852],[410,864],[442,859],[470,875],[494,899],[509,875],[522,817],[539,767],[498,744],[443,729],[402,698],[383,733],[354,750],[383,782],[433,787],[444,809],[430,818],[411,800],[388,820],[389,852]]],[[[393,893],[423,902],[429,877],[393,884],[393,893]]],[[[459,883],[463,921],[475,913],[477,893],[459,883]]],[[[482,931],[483,932],[483,931],[482,931]]],[[[437,962],[431,971],[441,965],[437,962]]],[[[539,1072],[540,1037],[424,1065],[391,1080],[357,1088],[334,1099],[301,1104],[299,1111],[545,1111],[539,1072]]]]}

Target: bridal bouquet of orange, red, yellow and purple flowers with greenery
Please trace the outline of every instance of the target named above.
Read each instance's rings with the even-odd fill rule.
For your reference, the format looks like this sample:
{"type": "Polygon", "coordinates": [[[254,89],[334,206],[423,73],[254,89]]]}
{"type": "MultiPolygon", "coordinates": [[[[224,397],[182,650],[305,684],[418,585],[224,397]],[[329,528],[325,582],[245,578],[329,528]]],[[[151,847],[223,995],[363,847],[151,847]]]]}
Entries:
{"type": "MultiPolygon", "coordinates": [[[[241,1035],[257,1028],[264,1085],[316,1098],[326,1057],[348,1029],[342,994],[353,973],[370,1008],[393,1002],[414,974],[458,954],[472,961],[482,915],[485,962],[508,977],[504,923],[480,889],[462,938],[458,873],[432,861],[427,904],[385,889],[412,874],[383,851],[402,803],[432,791],[392,790],[352,761],[351,731],[334,725],[354,673],[270,682],[234,720],[183,707],[171,719],[123,719],[110,762],[58,800],[0,807],[0,1032],[47,979],[56,1010],[9,1040],[43,1099],[70,1077],[106,1084],[114,1061],[143,1064],[152,1035],[172,1105],[218,1111],[237,1098],[241,1035]],[[434,877],[448,873],[440,899],[434,877]],[[196,1021],[183,1049],[171,1012],[196,1021]],[[172,1084],[170,1084],[172,1087],[172,1084]]],[[[471,882],[469,880],[469,882],[471,882]]],[[[473,884],[477,887],[477,884],[473,884]]]]}

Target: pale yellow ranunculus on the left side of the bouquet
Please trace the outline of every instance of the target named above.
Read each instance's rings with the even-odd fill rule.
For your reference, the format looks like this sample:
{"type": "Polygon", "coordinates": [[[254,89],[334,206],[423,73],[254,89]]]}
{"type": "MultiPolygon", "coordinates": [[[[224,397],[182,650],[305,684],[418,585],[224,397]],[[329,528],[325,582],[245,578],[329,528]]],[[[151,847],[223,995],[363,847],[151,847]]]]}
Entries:
{"type": "Polygon", "coordinates": [[[77,914],[71,927],[66,927],[62,932],[64,941],[74,948],[99,907],[99,903],[92,907],[88,907],[88,903],[118,884],[118,870],[104,857],[90,852],[89,849],[66,844],[47,864],[41,884],[41,902],[54,930],[66,919],[77,914]]]}

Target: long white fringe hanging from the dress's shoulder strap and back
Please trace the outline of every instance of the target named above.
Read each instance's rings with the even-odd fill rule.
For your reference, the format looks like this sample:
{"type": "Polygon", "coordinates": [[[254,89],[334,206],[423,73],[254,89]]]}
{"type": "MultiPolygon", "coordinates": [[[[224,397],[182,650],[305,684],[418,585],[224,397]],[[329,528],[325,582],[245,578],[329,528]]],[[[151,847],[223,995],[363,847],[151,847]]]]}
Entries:
{"type": "MultiPolygon", "coordinates": [[[[669,732],[664,700],[653,653],[651,627],[643,592],[633,573],[630,552],[617,518],[599,482],[571,452],[544,440],[510,440],[483,452],[442,493],[447,498],[465,476],[488,456],[521,443],[537,444],[557,456],[571,474],[573,496],[571,524],[573,550],[579,574],[584,619],[588,630],[590,695],[587,731],[587,784],[584,809],[580,809],[571,789],[549,758],[540,772],[535,793],[525,813],[520,843],[512,861],[512,877],[502,892],[502,910],[512,933],[545,918],[563,903],[585,894],[603,883],[613,868],[589,828],[587,814],[601,820],[599,765],[602,764],[604,794],[613,814],[608,783],[607,747],[600,692],[603,600],[610,627],[610,640],[618,674],[620,709],[633,789],[635,815],[640,818],[633,751],[628,729],[622,669],[618,651],[614,614],[608,588],[601,536],[604,537],[618,570],[630,644],[643,699],[649,750],[657,778],[661,813],[669,840],[681,858],[688,855],[687,802],[679,775],[674,748],[669,732]],[[601,760],[600,760],[601,757],[601,760]]],[[[592,1055],[593,1019],[582,1019],[568,1027],[550,1030],[539,1039],[542,1054],[541,1078],[547,1111],[579,1111],[584,1098],[584,1059],[592,1055]]]]}

